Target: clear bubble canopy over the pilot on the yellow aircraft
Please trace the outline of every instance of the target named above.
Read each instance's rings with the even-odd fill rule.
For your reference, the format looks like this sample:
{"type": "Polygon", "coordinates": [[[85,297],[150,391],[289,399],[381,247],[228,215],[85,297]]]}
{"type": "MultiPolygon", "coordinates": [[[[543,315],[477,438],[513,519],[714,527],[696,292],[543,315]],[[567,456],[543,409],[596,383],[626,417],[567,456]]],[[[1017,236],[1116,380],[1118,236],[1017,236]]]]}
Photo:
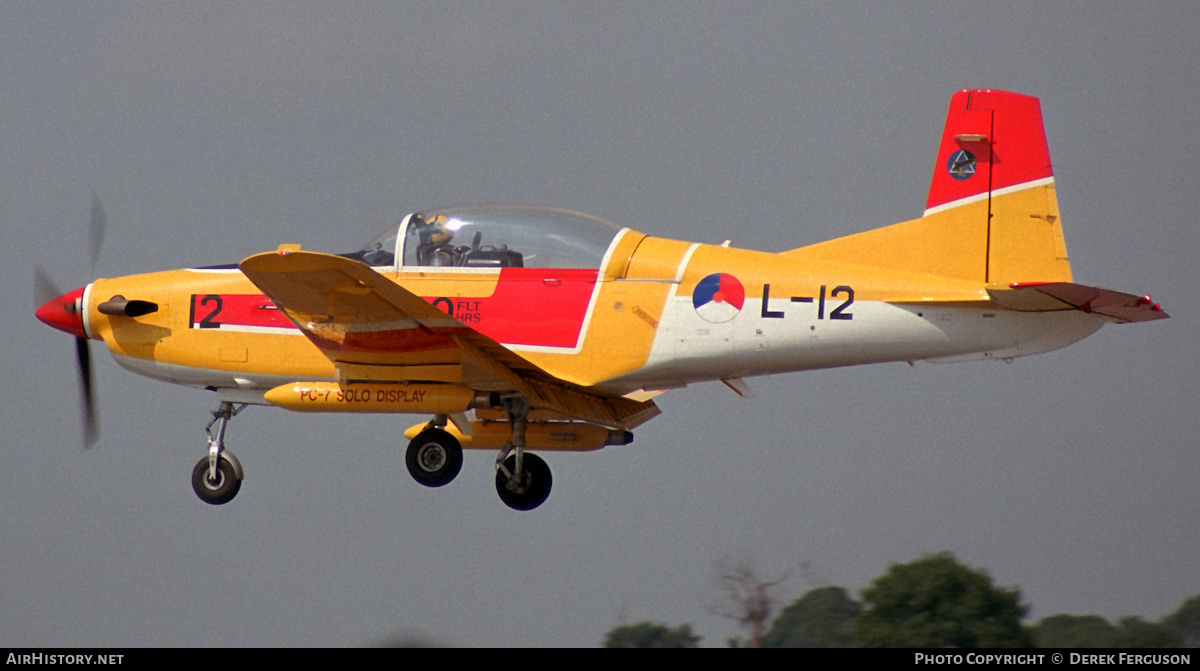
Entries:
{"type": "Polygon", "coordinates": [[[358,252],[374,266],[599,268],[620,227],[570,210],[522,205],[413,212],[358,252]]]}

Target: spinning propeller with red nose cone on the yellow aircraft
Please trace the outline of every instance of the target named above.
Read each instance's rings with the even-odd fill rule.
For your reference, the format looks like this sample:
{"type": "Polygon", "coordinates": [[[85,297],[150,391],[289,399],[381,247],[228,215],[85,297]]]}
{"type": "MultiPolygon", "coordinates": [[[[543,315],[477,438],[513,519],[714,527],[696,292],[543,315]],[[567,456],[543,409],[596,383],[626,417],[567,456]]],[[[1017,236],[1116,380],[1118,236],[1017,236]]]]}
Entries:
{"type": "MultiPolygon", "coordinates": [[[[104,241],[104,228],[108,226],[108,217],[104,208],[100,203],[100,197],[91,194],[91,218],[88,223],[88,254],[91,264],[91,275],[96,272],[96,259],[100,257],[100,247],[104,241]]],[[[96,400],[91,385],[91,349],[88,343],[88,334],[84,331],[84,304],[83,294],[86,287],[73,292],[62,293],[50,280],[40,265],[34,266],[34,299],[37,307],[37,318],[46,324],[71,334],[76,337],[76,364],[79,367],[79,405],[83,418],[83,447],[90,448],[100,437],[100,423],[96,419],[96,400]]]]}

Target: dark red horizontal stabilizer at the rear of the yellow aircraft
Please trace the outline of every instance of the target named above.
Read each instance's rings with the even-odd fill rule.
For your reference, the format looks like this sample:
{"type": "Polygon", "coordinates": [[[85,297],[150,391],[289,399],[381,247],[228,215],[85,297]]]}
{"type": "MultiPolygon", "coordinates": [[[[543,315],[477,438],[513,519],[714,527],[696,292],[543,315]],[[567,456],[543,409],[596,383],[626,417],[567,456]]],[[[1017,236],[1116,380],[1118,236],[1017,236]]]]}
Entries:
{"type": "Polygon", "coordinates": [[[989,288],[988,294],[996,304],[1019,312],[1081,310],[1118,324],[1170,317],[1150,296],[1070,282],[1014,282],[1008,287],[989,288]]]}

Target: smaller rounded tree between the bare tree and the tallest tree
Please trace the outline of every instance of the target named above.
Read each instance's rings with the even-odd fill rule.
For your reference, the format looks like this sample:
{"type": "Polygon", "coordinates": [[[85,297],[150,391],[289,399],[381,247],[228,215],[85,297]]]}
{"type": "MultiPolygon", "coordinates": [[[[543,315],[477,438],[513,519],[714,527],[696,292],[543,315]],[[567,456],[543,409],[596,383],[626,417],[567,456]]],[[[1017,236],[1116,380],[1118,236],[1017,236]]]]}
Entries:
{"type": "Polygon", "coordinates": [[[863,604],[841,587],[810,589],[780,611],[762,637],[766,648],[848,648],[863,604]]]}

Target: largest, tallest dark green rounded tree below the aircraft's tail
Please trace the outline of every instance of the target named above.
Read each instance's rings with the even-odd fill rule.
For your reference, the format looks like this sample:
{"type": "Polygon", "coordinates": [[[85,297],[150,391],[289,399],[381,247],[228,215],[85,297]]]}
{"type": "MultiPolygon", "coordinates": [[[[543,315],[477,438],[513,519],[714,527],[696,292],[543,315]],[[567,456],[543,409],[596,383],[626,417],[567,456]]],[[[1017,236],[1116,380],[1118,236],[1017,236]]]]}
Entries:
{"type": "Polygon", "coordinates": [[[1020,592],[994,587],[985,571],[949,552],[893,564],[863,591],[866,610],[854,619],[864,647],[1028,647],[1020,592]]]}

